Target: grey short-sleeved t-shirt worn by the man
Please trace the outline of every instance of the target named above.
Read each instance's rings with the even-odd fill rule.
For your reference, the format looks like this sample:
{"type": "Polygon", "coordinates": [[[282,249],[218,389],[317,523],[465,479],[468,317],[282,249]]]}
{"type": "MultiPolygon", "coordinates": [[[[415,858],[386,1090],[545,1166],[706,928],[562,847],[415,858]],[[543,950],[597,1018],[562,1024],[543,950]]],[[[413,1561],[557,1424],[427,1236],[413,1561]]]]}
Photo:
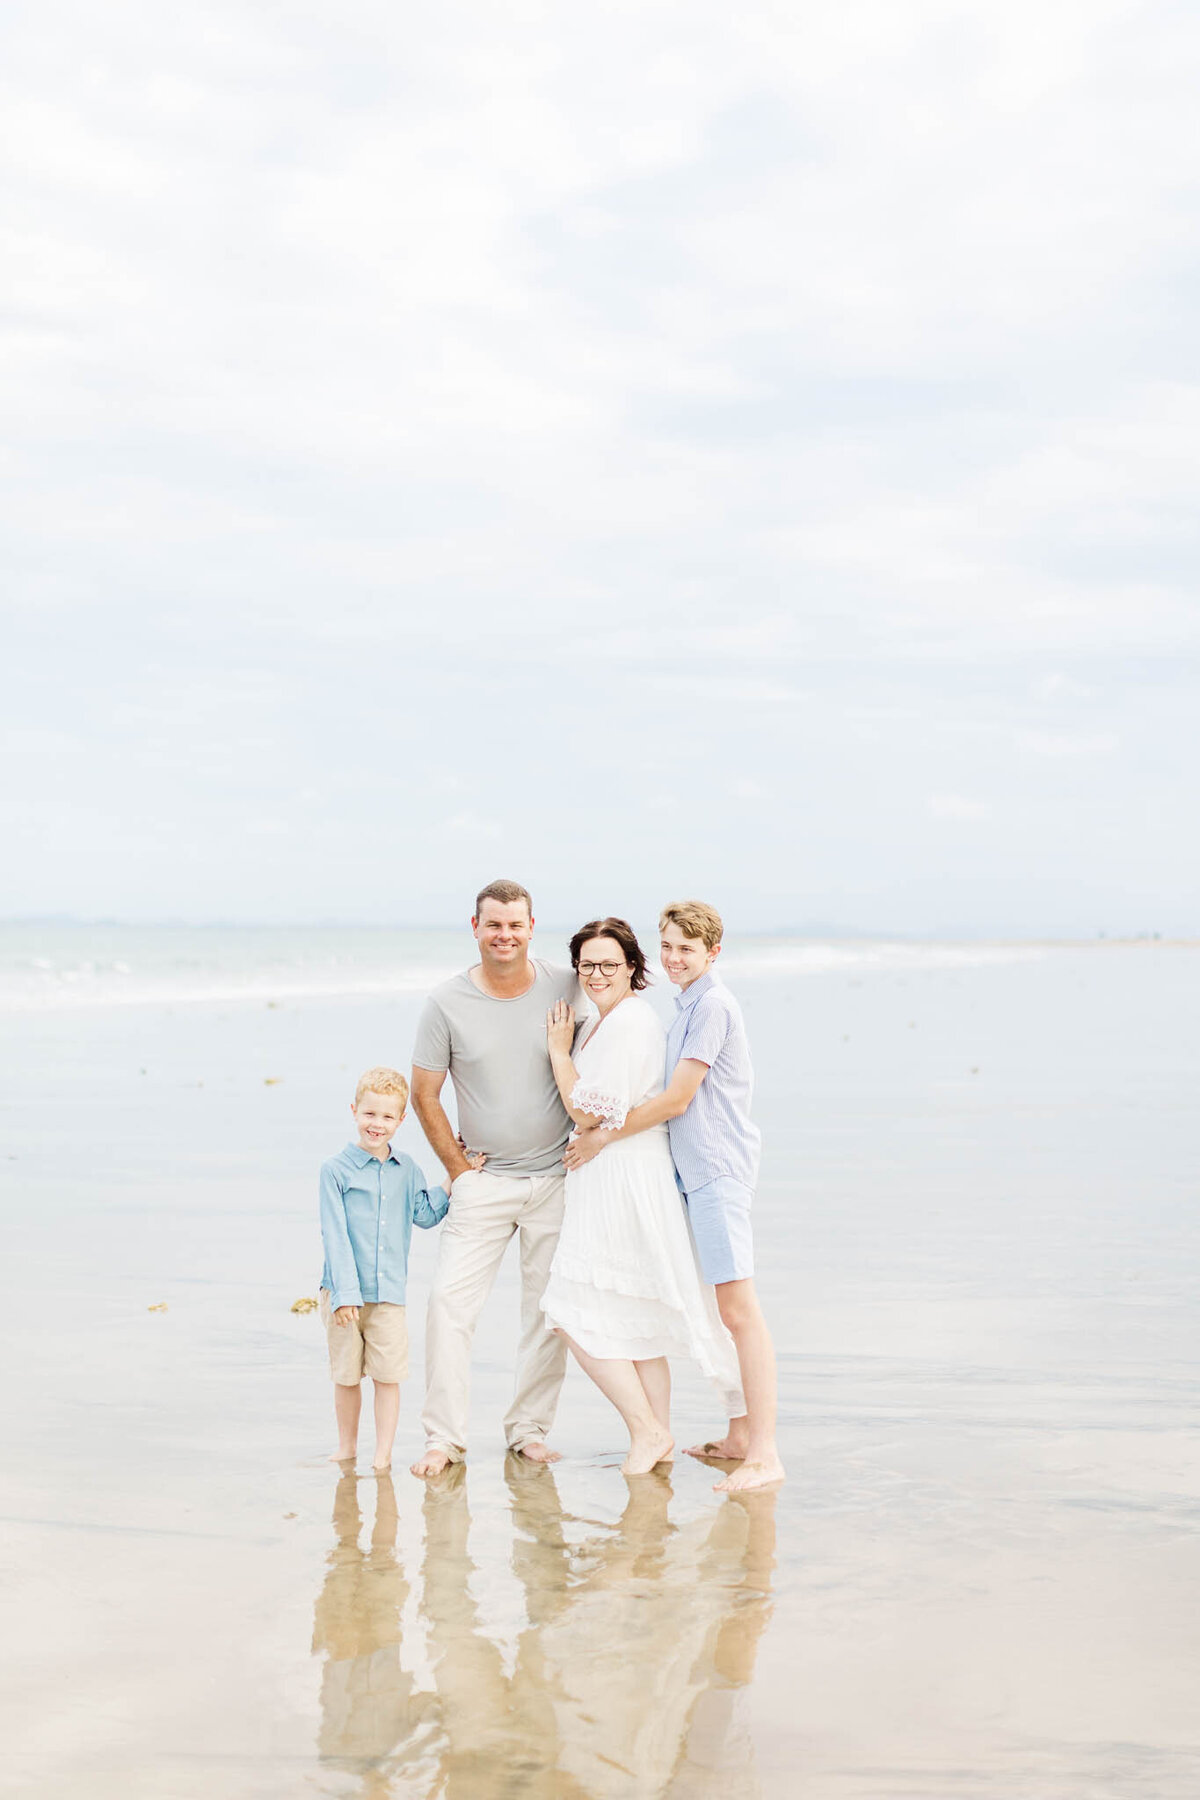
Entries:
{"type": "Polygon", "coordinates": [[[534,983],[515,1001],[498,1001],[464,970],[434,988],[412,1060],[450,1069],[459,1130],[468,1150],[482,1150],[495,1175],[543,1175],[561,1168],[570,1120],[545,1048],[545,1015],[554,1001],[578,1003],[574,968],[529,958],[534,983]]]}

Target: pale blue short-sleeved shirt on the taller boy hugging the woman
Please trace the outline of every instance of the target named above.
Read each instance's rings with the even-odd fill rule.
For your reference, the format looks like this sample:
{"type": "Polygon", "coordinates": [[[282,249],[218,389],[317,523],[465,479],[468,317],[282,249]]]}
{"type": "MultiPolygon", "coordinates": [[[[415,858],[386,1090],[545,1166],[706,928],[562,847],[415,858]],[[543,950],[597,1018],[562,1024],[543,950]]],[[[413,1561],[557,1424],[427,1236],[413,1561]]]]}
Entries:
{"type": "Polygon", "coordinates": [[[680,1062],[707,1062],[693,1103],[669,1120],[671,1156],[685,1193],[732,1175],[757,1181],[763,1134],[750,1120],[754,1069],[741,1006],[709,970],[675,1001],[667,1031],[667,1082],[680,1062]]]}

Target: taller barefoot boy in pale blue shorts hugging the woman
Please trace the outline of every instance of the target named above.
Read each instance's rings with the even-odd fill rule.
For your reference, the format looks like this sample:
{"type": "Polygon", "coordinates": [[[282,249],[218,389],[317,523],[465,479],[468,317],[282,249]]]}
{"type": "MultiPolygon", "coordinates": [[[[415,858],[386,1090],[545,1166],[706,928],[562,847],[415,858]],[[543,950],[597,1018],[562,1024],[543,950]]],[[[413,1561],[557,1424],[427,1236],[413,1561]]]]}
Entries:
{"type": "Polygon", "coordinates": [[[667,1031],[666,1089],[633,1107],[621,1130],[583,1132],[563,1161],[578,1168],[612,1143],[667,1121],[671,1156],[687,1201],[700,1269],[716,1287],[721,1318],[738,1346],[743,1418],[723,1438],[694,1444],[689,1456],[739,1462],[716,1483],[738,1494],[783,1481],[775,1445],[775,1352],[754,1292],[750,1201],[759,1161],[759,1130],[750,1123],[750,1048],[741,1008],[716,979],[721,916],[702,900],[676,900],[658,920],[658,954],[680,990],[667,1031]]]}

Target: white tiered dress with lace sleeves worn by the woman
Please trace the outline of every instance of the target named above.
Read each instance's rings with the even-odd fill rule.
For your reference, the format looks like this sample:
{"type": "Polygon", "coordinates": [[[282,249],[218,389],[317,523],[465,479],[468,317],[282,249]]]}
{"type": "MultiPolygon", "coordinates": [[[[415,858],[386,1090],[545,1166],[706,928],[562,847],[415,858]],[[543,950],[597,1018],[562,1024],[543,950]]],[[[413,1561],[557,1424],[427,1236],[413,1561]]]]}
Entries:
{"type": "MultiPolygon", "coordinates": [[[[572,1107],[619,1129],[662,1093],[666,1031],[631,994],[585,1037],[574,1064],[572,1107]]],[[[666,1125],[610,1143],[569,1172],[542,1310],[594,1357],[693,1357],[729,1417],[745,1413],[738,1352],[700,1274],[666,1125]]]]}

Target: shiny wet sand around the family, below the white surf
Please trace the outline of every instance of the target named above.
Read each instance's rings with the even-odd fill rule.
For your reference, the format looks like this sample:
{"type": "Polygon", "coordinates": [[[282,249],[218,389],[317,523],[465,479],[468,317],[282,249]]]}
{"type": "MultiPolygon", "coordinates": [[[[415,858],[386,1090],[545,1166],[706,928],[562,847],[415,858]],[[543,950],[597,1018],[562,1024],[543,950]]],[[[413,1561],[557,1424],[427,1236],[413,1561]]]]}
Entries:
{"type": "Polygon", "coordinates": [[[1195,1800],[1200,952],[736,985],[792,1469],[745,1503],[626,1481],[574,1372],[563,1462],[506,1458],[511,1269],[414,1481],[435,1233],[392,1480],[326,1463],[315,1168],[416,997],[4,1021],[2,1793],[1195,1800]]]}

